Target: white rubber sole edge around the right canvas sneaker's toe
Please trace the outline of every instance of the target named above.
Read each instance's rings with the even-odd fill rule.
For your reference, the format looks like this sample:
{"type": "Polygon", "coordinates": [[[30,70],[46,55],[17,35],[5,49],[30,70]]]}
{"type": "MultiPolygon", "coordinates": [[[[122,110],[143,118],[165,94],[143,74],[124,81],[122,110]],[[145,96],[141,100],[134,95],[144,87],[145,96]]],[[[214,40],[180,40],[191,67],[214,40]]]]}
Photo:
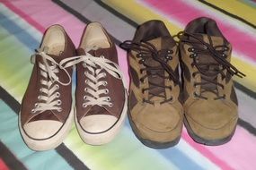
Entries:
{"type": "Polygon", "coordinates": [[[102,132],[102,133],[94,133],[94,134],[84,132],[83,128],[80,126],[80,123],[78,123],[78,120],[76,118],[76,109],[75,109],[75,126],[81,139],[85,143],[90,145],[103,145],[103,144],[109,143],[119,133],[120,129],[122,128],[125,122],[127,112],[128,112],[128,95],[125,92],[125,103],[124,103],[124,107],[120,115],[120,118],[118,122],[109,131],[102,132]]]}

